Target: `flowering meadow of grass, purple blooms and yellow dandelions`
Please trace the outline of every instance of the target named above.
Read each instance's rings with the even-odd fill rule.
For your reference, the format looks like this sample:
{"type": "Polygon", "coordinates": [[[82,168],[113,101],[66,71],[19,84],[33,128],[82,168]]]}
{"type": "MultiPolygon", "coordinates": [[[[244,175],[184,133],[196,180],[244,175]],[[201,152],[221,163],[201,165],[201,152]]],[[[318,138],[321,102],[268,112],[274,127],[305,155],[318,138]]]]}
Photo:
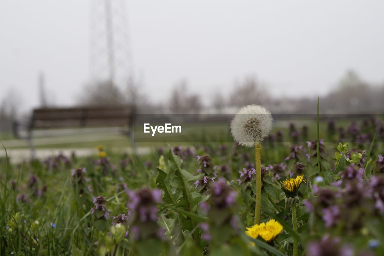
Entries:
{"type": "Polygon", "coordinates": [[[4,157],[0,255],[384,255],[383,139],[376,117],[324,121],[319,138],[316,122],[275,127],[260,224],[255,148],[209,133],[141,156],[106,142],[90,157],[4,157]]]}

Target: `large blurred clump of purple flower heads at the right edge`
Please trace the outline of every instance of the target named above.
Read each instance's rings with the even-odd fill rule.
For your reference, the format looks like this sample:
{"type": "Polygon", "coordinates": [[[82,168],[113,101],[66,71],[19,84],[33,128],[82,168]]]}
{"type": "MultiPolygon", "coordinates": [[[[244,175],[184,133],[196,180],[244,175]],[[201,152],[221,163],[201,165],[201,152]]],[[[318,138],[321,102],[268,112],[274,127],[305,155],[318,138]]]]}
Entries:
{"type": "Polygon", "coordinates": [[[369,181],[364,169],[346,166],[333,186],[313,185],[314,197],[304,202],[308,211],[324,221],[325,228],[342,225],[344,230],[361,229],[364,219],[384,215],[384,178],[372,176],[369,181]],[[364,209],[364,211],[361,211],[364,209]]]}

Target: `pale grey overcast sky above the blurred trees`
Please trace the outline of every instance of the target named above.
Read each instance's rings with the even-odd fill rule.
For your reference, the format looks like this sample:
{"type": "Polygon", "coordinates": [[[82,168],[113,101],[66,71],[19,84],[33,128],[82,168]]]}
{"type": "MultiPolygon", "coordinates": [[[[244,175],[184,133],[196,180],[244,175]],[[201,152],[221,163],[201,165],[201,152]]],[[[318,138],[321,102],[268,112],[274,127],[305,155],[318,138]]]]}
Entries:
{"type": "MultiPolygon", "coordinates": [[[[70,105],[89,80],[90,1],[3,0],[1,97],[70,105]]],[[[322,95],[349,68],[384,81],[384,1],[127,0],[134,69],[152,101],[186,79],[190,90],[228,95],[254,75],[276,96],[322,95]]],[[[208,99],[206,99],[208,100],[208,99]]]]}

